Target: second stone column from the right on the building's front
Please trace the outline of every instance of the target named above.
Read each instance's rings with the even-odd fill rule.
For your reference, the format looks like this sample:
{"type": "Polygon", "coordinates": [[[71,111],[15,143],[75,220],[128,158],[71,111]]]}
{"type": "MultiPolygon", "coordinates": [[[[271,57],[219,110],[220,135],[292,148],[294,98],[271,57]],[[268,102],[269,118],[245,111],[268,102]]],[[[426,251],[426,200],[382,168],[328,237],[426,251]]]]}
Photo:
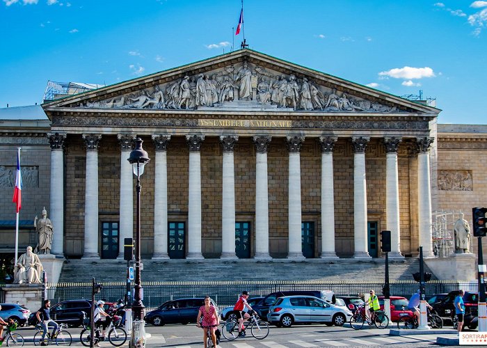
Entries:
{"type": "Polygon", "coordinates": [[[404,258],[401,254],[401,225],[399,214],[399,174],[397,149],[399,138],[385,138],[385,212],[386,229],[390,230],[391,251],[389,258],[404,258]]]}

